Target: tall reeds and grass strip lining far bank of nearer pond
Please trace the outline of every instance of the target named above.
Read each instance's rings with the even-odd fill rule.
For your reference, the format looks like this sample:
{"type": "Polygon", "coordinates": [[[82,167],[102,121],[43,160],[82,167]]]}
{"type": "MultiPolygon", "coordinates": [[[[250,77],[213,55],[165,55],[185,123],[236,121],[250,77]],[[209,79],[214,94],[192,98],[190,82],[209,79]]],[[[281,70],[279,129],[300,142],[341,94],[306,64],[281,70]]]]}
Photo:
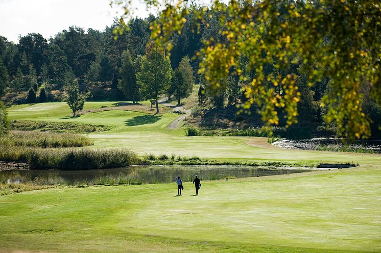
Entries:
{"type": "MultiPolygon", "coordinates": [[[[121,168],[131,165],[235,165],[235,166],[273,166],[273,167],[310,167],[325,168],[323,162],[290,163],[281,161],[255,160],[218,160],[193,157],[181,157],[152,154],[138,157],[127,149],[74,149],[74,148],[11,148],[0,147],[0,161],[28,164],[29,169],[90,170],[121,168]]],[[[329,164],[341,168],[354,167],[353,162],[329,164]]],[[[15,166],[14,166],[15,167],[15,166]]],[[[23,166],[25,168],[25,166],[23,166]]],[[[327,167],[328,168],[328,167],[327,167]]],[[[6,168],[8,170],[8,168],[6,168]]],[[[0,169],[1,171],[1,169],[0,169]]]]}

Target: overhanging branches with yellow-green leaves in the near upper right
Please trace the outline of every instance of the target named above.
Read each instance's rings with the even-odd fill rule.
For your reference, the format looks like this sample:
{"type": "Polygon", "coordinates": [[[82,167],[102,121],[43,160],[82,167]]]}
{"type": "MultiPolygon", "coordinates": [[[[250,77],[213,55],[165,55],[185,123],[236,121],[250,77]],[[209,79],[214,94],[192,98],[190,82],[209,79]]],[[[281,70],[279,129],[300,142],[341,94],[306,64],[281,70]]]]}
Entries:
{"type": "MultiPolygon", "coordinates": [[[[131,14],[130,1],[123,4],[131,14]]],[[[172,36],[181,31],[189,13],[188,1],[144,0],[149,7],[161,8],[160,19],[151,24],[152,37],[159,46],[171,49],[172,36]]],[[[303,65],[308,85],[330,78],[330,89],[321,102],[324,120],[335,122],[337,134],[347,139],[370,136],[369,117],[362,109],[361,87],[370,84],[370,94],[381,104],[381,15],[378,0],[370,1],[237,1],[228,5],[214,1],[195,15],[196,26],[209,26],[205,13],[218,15],[221,38],[209,37],[200,54],[200,73],[212,89],[222,89],[223,80],[238,64],[249,61],[254,76],[244,80],[247,102],[243,110],[256,104],[263,121],[279,124],[278,110],[285,112],[288,125],[297,122],[301,93],[296,85],[297,70],[303,65]],[[275,63],[275,64],[274,64],[275,63]],[[274,75],[266,66],[287,71],[274,75]],[[276,92],[281,86],[282,93],[276,92]]]]}

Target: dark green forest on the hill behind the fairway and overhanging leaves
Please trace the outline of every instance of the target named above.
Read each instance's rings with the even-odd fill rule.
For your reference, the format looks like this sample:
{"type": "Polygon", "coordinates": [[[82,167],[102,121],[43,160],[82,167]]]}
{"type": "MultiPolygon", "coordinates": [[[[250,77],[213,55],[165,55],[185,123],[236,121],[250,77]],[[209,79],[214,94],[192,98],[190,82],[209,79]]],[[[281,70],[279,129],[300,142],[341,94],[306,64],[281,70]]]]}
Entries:
{"type": "MultiPolygon", "coordinates": [[[[192,85],[197,82],[200,83],[200,111],[244,104],[248,98],[242,87],[247,82],[245,80],[252,80],[256,75],[246,57],[239,59],[241,79],[232,69],[229,77],[221,80],[221,88],[217,92],[208,89],[205,77],[197,74],[200,58],[196,55],[205,46],[204,42],[210,38],[218,41],[226,39],[220,33],[221,20],[216,12],[206,11],[203,17],[206,21],[199,28],[195,26],[194,12],[200,8],[203,7],[189,9],[181,33],[172,35],[171,52],[158,50],[160,52],[156,58],[152,56],[152,50],[147,49],[151,43],[150,24],[157,20],[153,15],[144,19],[131,19],[127,24],[128,29],[117,37],[114,30],[120,24],[116,19],[104,31],[69,27],[50,39],[38,33],[28,34],[20,37],[18,44],[0,36],[0,95],[5,95],[4,99],[8,103],[65,100],[69,86],[78,82],[80,93],[88,100],[128,99],[135,103],[141,99],[157,99],[160,95],[168,95],[180,104],[180,99],[189,95],[192,85]],[[164,60],[160,61],[160,56],[164,60]],[[162,79],[160,90],[152,91],[147,84],[150,64],[153,63],[150,61],[167,68],[164,70],[169,78],[162,79]],[[24,92],[23,97],[18,96],[20,92],[24,92]],[[157,94],[152,95],[155,92],[157,94]]],[[[278,76],[288,74],[286,70],[275,68],[276,64],[274,61],[263,67],[265,71],[278,76]]],[[[329,90],[330,77],[323,77],[311,87],[302,66],[293,64],[292,67],[298,73],[295,85],[300,92],[298,126],[311,122],[319,125],[326,113],[320,107],[320,100],[329,90]]],[[[281,85],[274,92],[279,96],[284,94],[281,85]]],[[[377,135],[381,124],[381,108],[367,95],[367,90],[363,92],[365,99],[362,107],[372,120],[373,135],[377,135]]],[[[255,110],[255,107],[251,109],[253,113],[255,110]]],[[[334,128],[335,125],[326,126],[330,127],[334,128]]]]}

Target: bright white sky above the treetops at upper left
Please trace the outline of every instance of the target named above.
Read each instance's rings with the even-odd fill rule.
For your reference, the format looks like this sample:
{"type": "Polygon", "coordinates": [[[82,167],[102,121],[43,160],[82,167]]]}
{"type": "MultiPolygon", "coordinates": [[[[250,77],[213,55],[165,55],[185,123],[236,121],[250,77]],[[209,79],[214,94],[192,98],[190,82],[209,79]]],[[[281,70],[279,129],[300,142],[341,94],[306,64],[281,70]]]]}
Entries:
{"type": "MultiPolygon", "coordinates": [[[[148,16],[145,7],[135,13],[148,16]]],[[[40,33],[49,39],[70,26],[103,31],[117,9],[109,0],[0,0],[0,35],[18,43],[18,36],[40,33]]]]}

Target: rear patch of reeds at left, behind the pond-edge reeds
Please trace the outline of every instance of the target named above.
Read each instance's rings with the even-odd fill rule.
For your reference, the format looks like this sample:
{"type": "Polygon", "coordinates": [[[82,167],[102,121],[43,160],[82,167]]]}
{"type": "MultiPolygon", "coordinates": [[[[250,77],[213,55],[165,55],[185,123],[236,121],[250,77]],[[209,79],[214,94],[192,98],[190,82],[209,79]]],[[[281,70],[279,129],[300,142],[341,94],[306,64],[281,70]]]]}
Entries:
{"type": "Polygon", "coordinates": [[[94,143],[87,136],[74,133],[12,132],[0,138],[0,146],[84,147],[94,143]]]}

